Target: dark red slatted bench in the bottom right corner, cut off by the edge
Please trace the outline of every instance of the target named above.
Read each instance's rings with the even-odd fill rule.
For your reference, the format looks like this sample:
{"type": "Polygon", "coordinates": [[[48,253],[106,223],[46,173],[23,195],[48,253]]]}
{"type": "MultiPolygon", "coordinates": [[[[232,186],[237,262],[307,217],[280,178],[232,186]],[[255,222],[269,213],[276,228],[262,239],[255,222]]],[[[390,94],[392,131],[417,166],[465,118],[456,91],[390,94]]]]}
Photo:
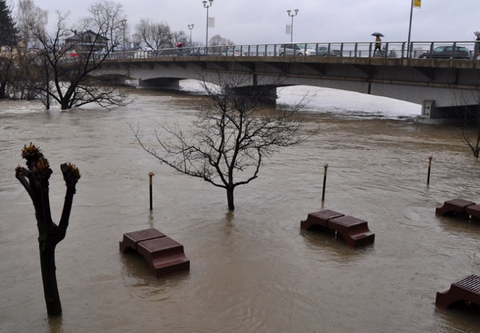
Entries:
{"type": "Polygon", "coordinates": [[[480,276],[468,275],[465,278],[451,284],[450,289],[438,291],[435,305],[447,309],[456,302],[464,302],[464,305],[480,306],[480,276]]]}

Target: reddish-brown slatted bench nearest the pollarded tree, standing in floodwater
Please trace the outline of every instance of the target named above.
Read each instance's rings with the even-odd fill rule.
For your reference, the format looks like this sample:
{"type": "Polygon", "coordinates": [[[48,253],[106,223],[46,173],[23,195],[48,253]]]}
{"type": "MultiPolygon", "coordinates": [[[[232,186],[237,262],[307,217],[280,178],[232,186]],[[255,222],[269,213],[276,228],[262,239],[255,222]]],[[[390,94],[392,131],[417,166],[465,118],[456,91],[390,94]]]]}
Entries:
{"type": "Polygon", "coordinates": [[[160,275],[190,269],[184,246],[156,229],[145,229],[123,234],[120,252],[136,250],[147,260],[152,274],[160,275]]]}

